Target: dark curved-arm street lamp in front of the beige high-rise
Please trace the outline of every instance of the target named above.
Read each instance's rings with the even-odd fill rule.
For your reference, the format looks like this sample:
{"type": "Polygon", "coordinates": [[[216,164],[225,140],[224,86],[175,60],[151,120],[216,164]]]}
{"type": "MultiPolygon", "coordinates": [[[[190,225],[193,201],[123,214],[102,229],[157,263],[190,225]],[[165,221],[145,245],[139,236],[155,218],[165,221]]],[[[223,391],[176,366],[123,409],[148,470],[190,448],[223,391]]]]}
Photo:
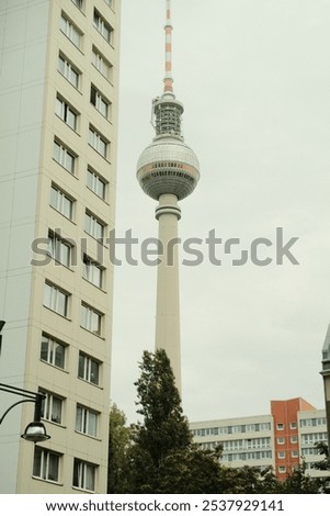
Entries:
{"type": "Polygon", "coordinates": [[[41,422],[42,418],[42,403],[46,397],[39,392],[26,391],[25,389],[15,388],[12,385],[7,385],[5,383],[0,383],[0,391],[8,392],[10,394],[16,394],[18,396],[23,396],[24,400],[11,405],[0,417],[0,425],[3,422],[7,414],[16,405],[21,403],[35,403],[34,410],[34,419],[25,428],[24,434],[21,435],[23,439],[31,440],[33,442],[41,442],[43,440],[50,439],[50,436],[47,435],[45,425],[41,422]]]}

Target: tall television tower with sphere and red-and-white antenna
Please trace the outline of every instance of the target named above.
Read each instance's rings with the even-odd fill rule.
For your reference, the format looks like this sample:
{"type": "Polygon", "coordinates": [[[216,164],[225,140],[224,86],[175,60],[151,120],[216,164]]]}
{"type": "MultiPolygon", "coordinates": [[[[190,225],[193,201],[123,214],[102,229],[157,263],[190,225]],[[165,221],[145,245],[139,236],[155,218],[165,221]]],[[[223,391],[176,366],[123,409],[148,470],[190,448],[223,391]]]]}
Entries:
{"type": "Polygon", "coordinates": [[[156,349],[164,349],[181,394],[178,201],[192,193],[200,179],[200,165],[181,133],[183,104],[173,94],[171,1],[166,0],[166,71],[163,93],[152,101],[156,136],[137,162],[141,189],[158,201],[159,265],[157,271],[156,349]]]}

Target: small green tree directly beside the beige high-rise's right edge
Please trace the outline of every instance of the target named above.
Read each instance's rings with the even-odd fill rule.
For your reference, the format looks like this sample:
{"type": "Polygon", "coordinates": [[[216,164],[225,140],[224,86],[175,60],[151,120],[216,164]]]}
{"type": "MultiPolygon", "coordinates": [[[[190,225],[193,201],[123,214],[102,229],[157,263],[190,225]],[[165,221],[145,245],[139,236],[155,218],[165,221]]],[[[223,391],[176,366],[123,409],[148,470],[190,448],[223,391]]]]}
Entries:
{"type": "Polygon", "coordinates": [[[125,414],[113,404],[109,415],[107,493],[120,494],[127,491],[130,434],[125,414]]]}

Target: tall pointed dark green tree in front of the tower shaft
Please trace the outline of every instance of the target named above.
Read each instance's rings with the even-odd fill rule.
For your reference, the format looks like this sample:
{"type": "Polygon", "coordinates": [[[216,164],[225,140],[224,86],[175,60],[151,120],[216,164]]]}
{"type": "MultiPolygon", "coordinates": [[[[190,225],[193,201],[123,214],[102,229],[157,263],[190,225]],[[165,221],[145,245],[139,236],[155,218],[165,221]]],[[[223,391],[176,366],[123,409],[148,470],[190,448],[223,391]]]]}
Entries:
{"type": "Polygon", "coordinates": [[[138,414],[128,451],[130,493],[220,492],[218,451],[194,442],[164,350],[144,352],[137,388],[138,414]]]}

